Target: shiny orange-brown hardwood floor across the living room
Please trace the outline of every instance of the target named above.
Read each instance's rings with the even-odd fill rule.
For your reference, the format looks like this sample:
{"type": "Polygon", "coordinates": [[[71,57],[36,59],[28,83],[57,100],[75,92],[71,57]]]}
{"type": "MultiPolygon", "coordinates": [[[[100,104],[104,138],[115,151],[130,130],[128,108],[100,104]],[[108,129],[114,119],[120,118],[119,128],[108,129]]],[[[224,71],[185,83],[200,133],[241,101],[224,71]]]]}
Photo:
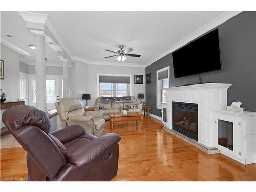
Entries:
{"type": "MultiPolygon", "coordinates": [[[[208,155],[163,130],[160,121],[106,122],[118,133],[118,173],[112,181],[256,181],[256,163],[243,165],[222,154],[208,155]]],[[[1,180],[27,177],[23,148],[1,150],[1,180]]]]}

